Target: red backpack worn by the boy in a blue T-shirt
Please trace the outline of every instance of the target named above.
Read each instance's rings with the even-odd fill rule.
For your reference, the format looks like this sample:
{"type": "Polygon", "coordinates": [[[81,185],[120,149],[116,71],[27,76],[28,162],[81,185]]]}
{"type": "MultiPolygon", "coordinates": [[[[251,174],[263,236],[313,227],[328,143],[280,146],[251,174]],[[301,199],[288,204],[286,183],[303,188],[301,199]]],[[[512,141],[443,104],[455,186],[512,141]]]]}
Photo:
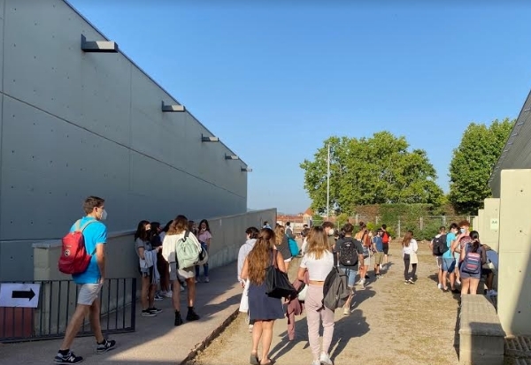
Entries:
{"type": "Polygon", "coordinates": [[[94,222],[96,220],[91,219],[81,227],[81,220],[79,220],[75,223],[75,230],[63,237],[63,247],[58,262],[58,269],[63,274],[81,274],[87,270],[92,255],[87,254],[83,231],[94,222]]]}

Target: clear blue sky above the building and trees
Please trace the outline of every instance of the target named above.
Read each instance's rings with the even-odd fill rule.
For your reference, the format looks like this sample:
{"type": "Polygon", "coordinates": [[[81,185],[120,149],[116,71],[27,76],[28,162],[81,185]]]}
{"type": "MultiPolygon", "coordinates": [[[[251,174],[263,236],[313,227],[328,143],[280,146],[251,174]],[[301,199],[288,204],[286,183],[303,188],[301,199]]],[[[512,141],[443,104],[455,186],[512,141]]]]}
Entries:
{"type": "Polygon", "coordinates": [[[382,130],[447,192],[466,126],[516,118],[531,88],[531,5],[281,3],[71,0],[250,165],[251,209],[304,211],[299,163],[382,130]]]}

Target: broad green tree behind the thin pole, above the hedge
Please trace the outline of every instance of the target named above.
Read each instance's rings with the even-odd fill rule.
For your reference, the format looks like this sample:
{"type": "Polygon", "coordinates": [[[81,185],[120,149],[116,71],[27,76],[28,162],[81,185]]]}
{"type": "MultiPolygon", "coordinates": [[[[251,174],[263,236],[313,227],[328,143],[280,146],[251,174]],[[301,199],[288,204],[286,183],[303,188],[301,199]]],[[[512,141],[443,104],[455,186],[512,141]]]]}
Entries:
{"type": "Polygon", "coordinates": [[[330,145],[330,208],[350,213],[357,205],[379,203],[437,204],[443,191],[422,149],[408,150],[404,137],[389,132],[371,138],[331,137],[313,161],[304,160],[304,188],[312,209],[327,207],[327,146],[330,145]]]}

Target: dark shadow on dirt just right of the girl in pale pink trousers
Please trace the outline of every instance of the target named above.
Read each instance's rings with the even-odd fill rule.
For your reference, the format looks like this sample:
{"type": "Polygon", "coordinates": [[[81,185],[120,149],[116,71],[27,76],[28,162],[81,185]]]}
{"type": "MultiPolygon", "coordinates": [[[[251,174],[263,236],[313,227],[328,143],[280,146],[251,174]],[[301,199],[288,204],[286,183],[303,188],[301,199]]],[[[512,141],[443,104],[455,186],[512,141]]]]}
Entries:
{"type": "Polygon", "coordinates": [[[370,330],[366,316],[363,316],[361,309],[355,309],[350,316],[344,316],[335,322],[334,338],[330,344],[330,358],[335,360],[339,354],[349,344],[350,338],[357,338],[365,335],[370,330]]]}

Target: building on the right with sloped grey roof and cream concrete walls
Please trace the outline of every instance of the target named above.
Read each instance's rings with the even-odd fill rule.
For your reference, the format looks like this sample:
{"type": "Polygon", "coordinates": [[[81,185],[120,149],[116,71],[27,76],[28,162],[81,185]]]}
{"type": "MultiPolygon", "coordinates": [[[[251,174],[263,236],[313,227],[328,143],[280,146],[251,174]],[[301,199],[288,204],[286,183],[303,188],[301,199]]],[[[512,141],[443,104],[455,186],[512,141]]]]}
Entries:
{"type": "MultiPolygon", "coordinates": [[[[498,316],[510,335],[531,335],[531,93],[489,179],[493,198],[479,232],[499,254],[498,316]]],[[[485,240],[482,240],[485,241],[485,240]]]]}

